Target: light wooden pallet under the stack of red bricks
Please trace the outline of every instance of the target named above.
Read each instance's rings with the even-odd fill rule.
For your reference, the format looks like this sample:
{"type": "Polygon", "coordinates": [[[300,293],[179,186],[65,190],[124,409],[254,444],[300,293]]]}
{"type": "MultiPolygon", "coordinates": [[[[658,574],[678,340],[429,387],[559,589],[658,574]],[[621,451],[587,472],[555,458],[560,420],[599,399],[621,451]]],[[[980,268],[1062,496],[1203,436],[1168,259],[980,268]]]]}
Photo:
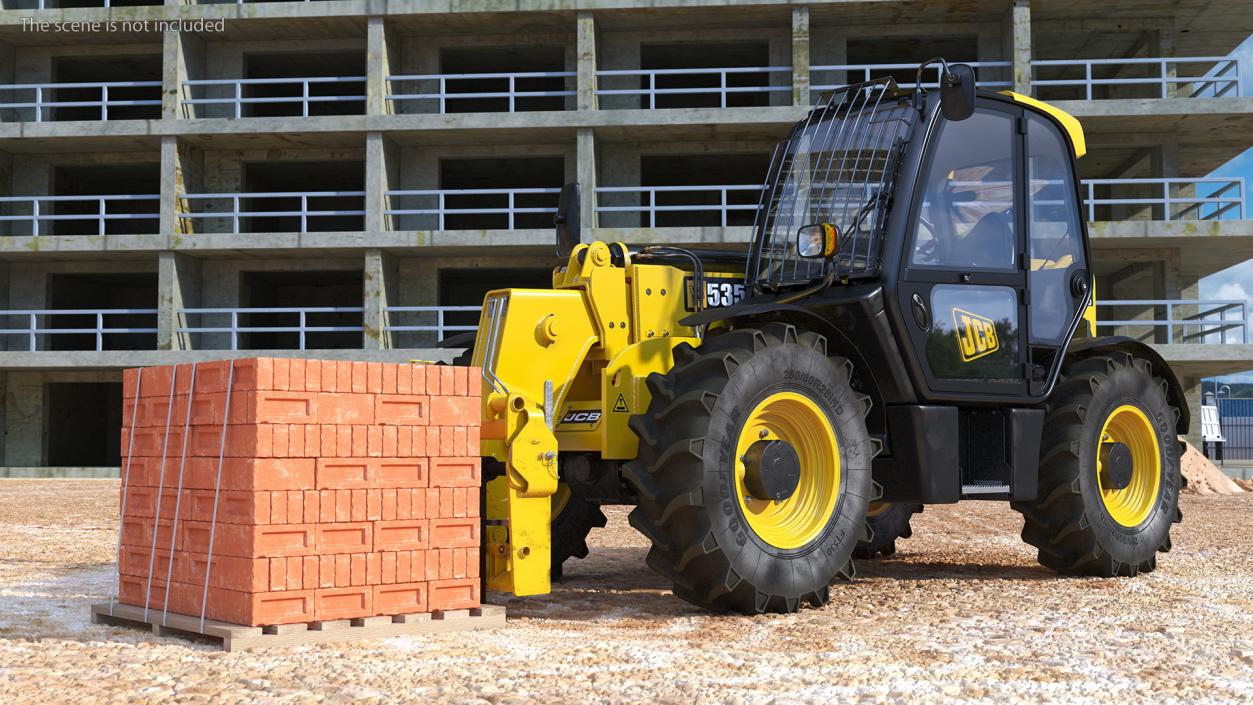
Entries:
{"type": "Polygon", "coordinates": [[[430,614],[392,615],[355,620],[284,624],[274,626],[244,626],[200,617],[175,615],[163,617],[160,610],[108,602],[91,605],[91,622],[150,629],[159,636],[207,636],[221,639],[222,649],[238,651],[269,646],[296,646],[299,644],[327,644],[357,639],[383,639],[411,634],[439,634],[469,629],[505,626],[505,607],[484,605],[472,610],[444,610],[430,614]]]}

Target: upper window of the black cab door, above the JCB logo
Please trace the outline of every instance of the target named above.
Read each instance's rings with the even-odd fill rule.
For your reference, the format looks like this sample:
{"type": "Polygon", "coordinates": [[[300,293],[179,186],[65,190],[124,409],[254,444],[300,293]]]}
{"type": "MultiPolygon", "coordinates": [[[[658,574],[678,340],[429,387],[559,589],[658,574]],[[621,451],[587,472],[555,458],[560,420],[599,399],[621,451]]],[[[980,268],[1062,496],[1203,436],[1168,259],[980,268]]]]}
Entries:
{"type": "Polygon", "coordinates": [[[923,180],[913,265],[1015,268],[1014,139],[1005,113],[945,121],[923,180]]]}

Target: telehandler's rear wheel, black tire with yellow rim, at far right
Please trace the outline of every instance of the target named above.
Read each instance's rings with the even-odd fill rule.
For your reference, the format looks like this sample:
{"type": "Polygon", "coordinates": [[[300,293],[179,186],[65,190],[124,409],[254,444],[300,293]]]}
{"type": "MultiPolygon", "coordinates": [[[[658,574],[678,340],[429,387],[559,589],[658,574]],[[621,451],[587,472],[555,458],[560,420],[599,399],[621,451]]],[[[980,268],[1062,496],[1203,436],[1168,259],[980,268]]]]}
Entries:
{"type": "Polygon", "coordinates": [[[1134,576],[1170,550],[1179,512],[1179,411],[1148,361],[1125,352],[1068,361],[1046,404],[1035,501],[1014,502],[1022,540],[1058,572],[1134,576]],[[1101,443],[1130,448],[1130,480],[1101,487],[1101,443]]]}

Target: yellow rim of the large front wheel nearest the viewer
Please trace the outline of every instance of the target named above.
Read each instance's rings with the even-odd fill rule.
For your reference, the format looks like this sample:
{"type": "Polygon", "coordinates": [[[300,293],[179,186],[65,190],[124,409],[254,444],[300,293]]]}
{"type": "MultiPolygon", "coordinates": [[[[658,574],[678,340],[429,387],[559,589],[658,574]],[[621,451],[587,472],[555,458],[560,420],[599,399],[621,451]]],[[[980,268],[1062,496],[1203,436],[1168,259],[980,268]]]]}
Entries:
{"type": "Polygon", "coordinates": [[[748,526],[776,548],[799,548],[827,526],[840,496],[840,443],[827,414],[796,392],[776,392],[748,414],[736,443],[736,496],[748,526]],[[744,455],[757,441],[786,441],[801,461],[796,492],[781,501],[753,497],[744,455]]]}

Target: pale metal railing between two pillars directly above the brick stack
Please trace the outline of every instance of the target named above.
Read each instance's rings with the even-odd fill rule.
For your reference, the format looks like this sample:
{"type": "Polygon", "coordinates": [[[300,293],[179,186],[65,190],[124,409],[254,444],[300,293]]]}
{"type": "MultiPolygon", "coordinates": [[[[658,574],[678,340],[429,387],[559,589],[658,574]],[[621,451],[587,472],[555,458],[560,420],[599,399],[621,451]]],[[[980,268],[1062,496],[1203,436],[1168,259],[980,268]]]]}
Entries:
{"type": "MultiPolygon", "coordinates": [[[[179,314],[183,317],[193,317],[199,321],[205,318],[216,318],[217,324],[200,324],[200,326],[179,326],[178,333],[183,334],[208,334],[202,338],[202,344],[195,346],[197,349],[219,349],[219,346],[214,344],[216,337],[212,334],[221,334],[229,341],[229,344],[224,349],[254,349],[257,346],[246,344],[241,347],[241,336],[252,336],[257,333],[279,333],[279,334],[294,334],[296,336],[296,348],[294,349],[309,349],[308,348],[308,336],[311,333],[357,333],[365,332],[365,326],[362,323],[365,308],[356,306],[320,306],[320,307],[252,307],[252,308],[180,308],[179,314]],[[257,323],[253,319],[257,317],[266,317],[269,321],[264,323],[257,323]],[[311,318],[313,321],[311,321],[311,318]],[[355,323],[342,324],[342,323],[326,323],[328,318],[350,318],[355,319],[355,323]],[[282,321],[279,323],[278,321],[282,321]],[[323,321],[323,322],[318,322],[323,321]]],[[[244,343],[251,342],[249,339],[243,341],[244,343]]],[[[271,346],[264,346],[271,347],[271,346]]],[[[357,341],[357,346],[361,347],[361,341],[357,341]]],[[[287,346],[276,346],[277,349],[287,349],[287,346]]]]}

